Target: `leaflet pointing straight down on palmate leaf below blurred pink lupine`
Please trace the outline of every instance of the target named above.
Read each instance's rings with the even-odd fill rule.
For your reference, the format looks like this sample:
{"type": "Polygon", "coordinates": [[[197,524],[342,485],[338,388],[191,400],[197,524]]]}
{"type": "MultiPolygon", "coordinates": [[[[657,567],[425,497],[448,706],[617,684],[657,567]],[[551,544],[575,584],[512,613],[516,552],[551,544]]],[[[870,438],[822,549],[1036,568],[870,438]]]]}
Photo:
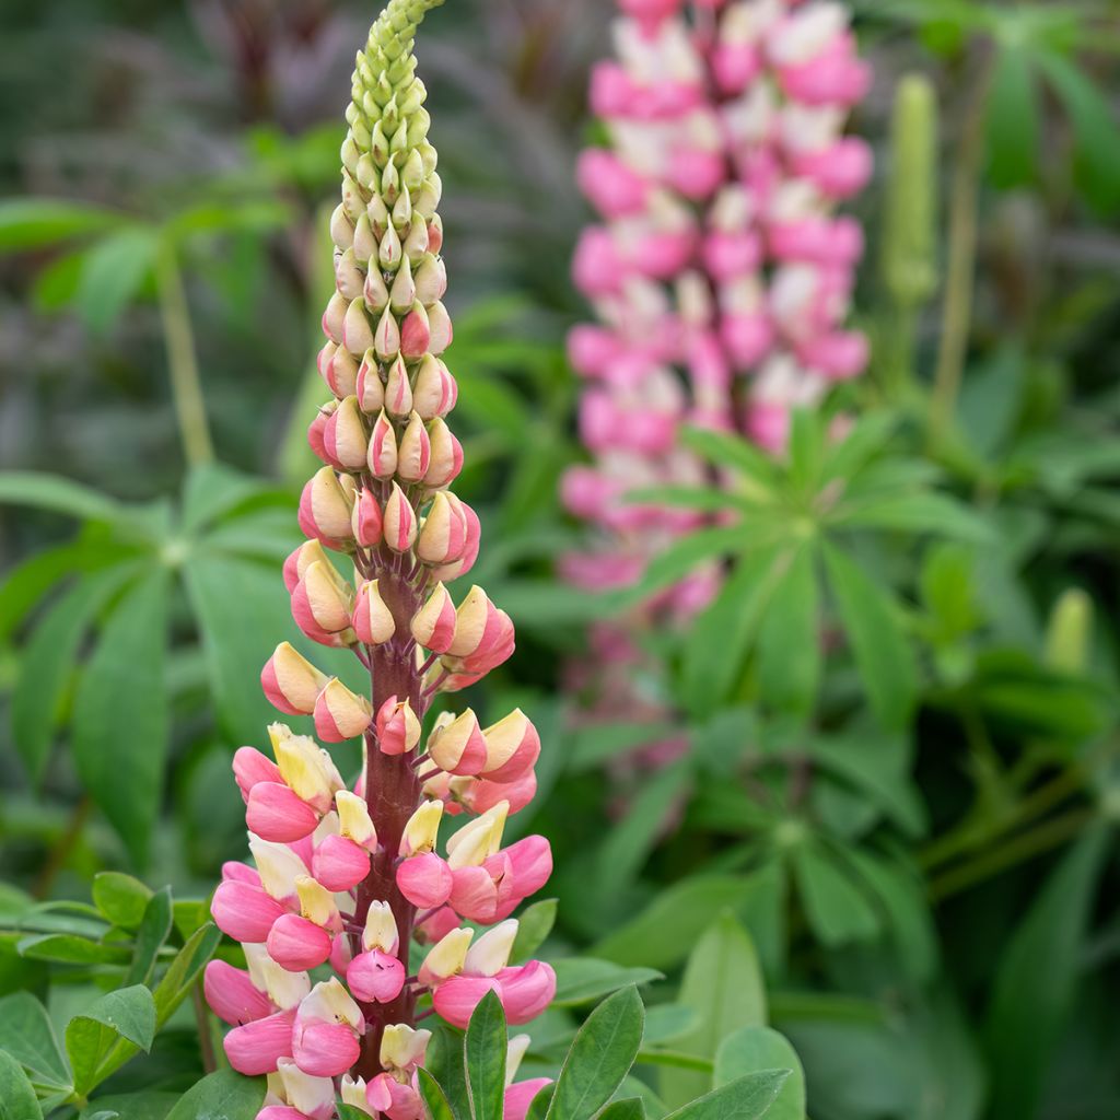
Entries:
{"type": "Polygon", "coordinates": [[[775,564],[774,590],[758,635],[758,685],[780,711],[808,716],[821,679],[815,548],[800,545],[775,564]]]}

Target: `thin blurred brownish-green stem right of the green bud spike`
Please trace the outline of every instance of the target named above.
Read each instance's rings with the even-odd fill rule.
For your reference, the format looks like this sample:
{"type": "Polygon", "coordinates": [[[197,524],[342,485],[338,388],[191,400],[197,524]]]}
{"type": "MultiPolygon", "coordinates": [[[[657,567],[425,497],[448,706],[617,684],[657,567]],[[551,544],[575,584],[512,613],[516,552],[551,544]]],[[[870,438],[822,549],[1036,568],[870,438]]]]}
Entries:
{"type": "Polygon", "coordinates": [[[930,407],[930,446],[944,439],[956,410],[972,327],[976,284],[980,164],[984,150],[984,119],[992,80],[992,57],[984,59],[965,106],[953,172],[949,220],[949,262],[941,320],[941,349],[930,407]]]}

